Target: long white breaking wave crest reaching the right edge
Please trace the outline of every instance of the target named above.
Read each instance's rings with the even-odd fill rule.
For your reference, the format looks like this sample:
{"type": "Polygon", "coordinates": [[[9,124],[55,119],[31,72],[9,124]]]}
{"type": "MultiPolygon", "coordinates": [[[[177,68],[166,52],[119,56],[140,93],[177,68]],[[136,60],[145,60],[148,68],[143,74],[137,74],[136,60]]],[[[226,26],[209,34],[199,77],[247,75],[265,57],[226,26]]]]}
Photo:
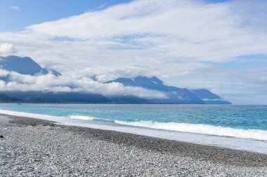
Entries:
{"type": "Polygon", "coordinates": [[[241,139],[257,139],[257,140],[267,141],[267,131],[260,129],[234,129],[231,127],[219,127],[213,125],[177,123],[177,122],[155,122],[155,121],[126,122],[126,121],[115,120],[115,123],[121,125],[147,127],[152,129],[166,129],[178,132],[208,134],[215,136],[231,136],[241,139]]]}

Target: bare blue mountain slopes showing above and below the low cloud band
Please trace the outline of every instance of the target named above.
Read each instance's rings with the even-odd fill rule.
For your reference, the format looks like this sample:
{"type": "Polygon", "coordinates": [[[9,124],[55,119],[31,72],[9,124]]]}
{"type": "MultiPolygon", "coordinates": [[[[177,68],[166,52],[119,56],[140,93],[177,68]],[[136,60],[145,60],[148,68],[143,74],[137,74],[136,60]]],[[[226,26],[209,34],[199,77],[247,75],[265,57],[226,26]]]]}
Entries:
{"type": "MultiPolygon", "coordinates": [[[[23,75],[39,76],[52,73],[62,76],[51,69],[42,68],[30,57],[8,56],[0,57],[0,69],[13,71],[23,75]]],[[[9,76],[1,76],[0,80],[9,82],[9,76]]],[[[133,95],[91,94],[82,92],[49,92],[46,91],[5,91],[0,90],[0,102],[27,102],[27,103],[116,103],[116,104],[231,104],[209,90],[188,90],[164,85],[159,78],[152,76],[136,76],[134,78],[117,78],[105,82],[121,83],[128,87],[142,87],[146,90],[162,92],[164,99],[148,99],[133,95]]]]}

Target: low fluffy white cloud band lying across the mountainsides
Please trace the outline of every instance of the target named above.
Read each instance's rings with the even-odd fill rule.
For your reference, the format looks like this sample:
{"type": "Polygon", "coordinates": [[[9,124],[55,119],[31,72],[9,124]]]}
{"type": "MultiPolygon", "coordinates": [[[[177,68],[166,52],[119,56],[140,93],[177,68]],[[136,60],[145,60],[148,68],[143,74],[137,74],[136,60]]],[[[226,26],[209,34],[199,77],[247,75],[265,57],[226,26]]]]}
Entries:
{"type": "Polygon", "coordinates": [[[51,73],[42,76],[22,75],[0,69],[0,76],[8,76],[7,83],[0,80],[1,91],[50,91],[50,92],[86,92],[93,94],[133,95],[141,98],[162,98],[167,96],[162,92],[146,90],[141,87],[124,87],[121,83],[99,83],[86,76],[70,73],[66,76],[54,76],[51,73]]]}

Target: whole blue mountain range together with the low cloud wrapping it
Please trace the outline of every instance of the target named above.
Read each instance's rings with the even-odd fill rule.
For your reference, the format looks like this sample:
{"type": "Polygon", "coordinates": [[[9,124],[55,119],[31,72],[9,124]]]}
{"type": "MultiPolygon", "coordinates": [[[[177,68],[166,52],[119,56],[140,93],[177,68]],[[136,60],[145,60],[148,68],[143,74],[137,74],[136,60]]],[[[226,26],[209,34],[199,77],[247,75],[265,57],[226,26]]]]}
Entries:
{"type": "Polygon", "coordinates": [[[103,75],[89,72],[61,75],[58,71],[42,68],[30,57],[17,56],[0,57],[0,67],[2,101],[230,104],[208,90],[203,94],[169,87],[155,76],[100,82],[98,78],[105,80],[103,75]]]}

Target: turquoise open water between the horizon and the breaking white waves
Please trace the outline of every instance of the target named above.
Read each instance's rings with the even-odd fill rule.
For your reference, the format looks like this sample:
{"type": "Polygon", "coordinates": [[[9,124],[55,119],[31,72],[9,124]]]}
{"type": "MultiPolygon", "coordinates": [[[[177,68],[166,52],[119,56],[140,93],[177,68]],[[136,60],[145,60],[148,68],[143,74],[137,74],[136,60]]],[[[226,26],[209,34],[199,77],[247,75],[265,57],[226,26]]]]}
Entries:
{"type": "Polygon", "coordinates": [[[83,115],[89,119],[93,117],[96,121],[177,122],[267,130],[267,106],[0,104],[0,109],[61,117],[83,115]]]}

